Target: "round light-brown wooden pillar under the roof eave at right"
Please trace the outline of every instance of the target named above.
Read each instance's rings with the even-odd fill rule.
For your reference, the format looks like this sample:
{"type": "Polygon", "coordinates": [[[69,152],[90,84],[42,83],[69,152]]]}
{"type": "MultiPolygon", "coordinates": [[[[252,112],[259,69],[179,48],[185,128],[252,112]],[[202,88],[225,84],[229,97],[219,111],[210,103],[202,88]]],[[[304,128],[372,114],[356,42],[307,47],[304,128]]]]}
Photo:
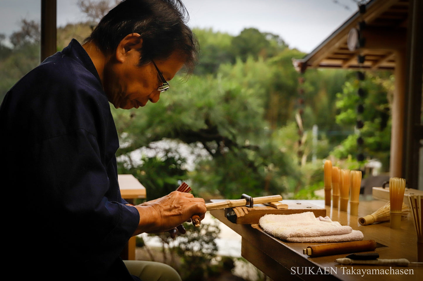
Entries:
{"type": "Polygon", "coordinates": [[[405,49],[395,52],[395,90],[392,101],[390,177],[403,177],[402,152],[404,137],[404,94],[406,83],[405,49]]]}

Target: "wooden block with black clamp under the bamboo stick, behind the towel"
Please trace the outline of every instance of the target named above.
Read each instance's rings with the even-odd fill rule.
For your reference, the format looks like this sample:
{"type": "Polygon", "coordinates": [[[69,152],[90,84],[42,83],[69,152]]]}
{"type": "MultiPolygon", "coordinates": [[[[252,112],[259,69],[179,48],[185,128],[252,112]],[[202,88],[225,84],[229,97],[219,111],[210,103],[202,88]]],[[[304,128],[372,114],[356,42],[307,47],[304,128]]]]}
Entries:
{"type": "Polygon", "coordinates": [[[316,217],[326,216],[325,208],[321,208],[308,202],[297,203],[287,202],[285,200],[282,202],[288,205],[288,209],[276,209],[264,204],[256,204],[253,208],[246,206],[227,208],[225,209],[225,216],[234,224],[258,224],[258,220],[266,214],[290,215],[313,212],[316,217]]]}

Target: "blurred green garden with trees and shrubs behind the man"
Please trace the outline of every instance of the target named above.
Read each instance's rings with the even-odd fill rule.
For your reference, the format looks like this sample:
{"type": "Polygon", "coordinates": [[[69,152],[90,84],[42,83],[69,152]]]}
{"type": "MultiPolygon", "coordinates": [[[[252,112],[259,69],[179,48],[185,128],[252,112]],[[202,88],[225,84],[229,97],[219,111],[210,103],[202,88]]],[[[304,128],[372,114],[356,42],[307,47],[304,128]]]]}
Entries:
{"type": "MultiPolygon", "coordinates": [[[[114,4],[78,1],[84,20],[58,27],[58,51],[71,38],[82,42],[114,4]]],[[[40,63],[39,20],[17,20],[20,29],[0,34],[0,101],[40,63]]],[[[392,73],[366,72],[364,82],[348,70],[300,74],[293,59],[306,53],[291,48],[283,34],[255,27],[236,35],[212,28],[194,32],[200,47],[194,74],[181,71],[157,104],[111,106],[121,144],[118,173],[134,175],[146,187],[147,200],[174,191],[182,181],[206,201],[238,199],[242,193],[321,199],[316,191],[323,188],[324,159],[363,172],[377,161],[379,173],[389,171],[392,73]],[[364,111],[357,109],[359,83],[365,83],[364,111]],[[363,120],[359,134],[357,115],[363,120]],[[359,136],[365,139],[363,161],[356,157],[359,136]]],[[[178,243],[161,235],[159,254],[145,236],[138,246],[145,247],[146,258],[172,264],[184,280],[214,280],[231,271],[236,259],[217,258],[214,239],[220,230],[213,222],[202,226],[187,226],[188,235],[178,243]]]]}

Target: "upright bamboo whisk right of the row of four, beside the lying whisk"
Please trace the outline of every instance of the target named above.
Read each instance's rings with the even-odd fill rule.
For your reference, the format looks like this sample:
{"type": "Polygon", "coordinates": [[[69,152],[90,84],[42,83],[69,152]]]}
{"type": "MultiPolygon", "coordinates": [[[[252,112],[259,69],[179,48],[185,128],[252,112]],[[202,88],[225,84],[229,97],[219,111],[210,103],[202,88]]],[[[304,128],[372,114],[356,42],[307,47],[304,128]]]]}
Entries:
{"type": "Polygon", "coordinates": [[[391,228],[401,228],[402,202],[404,200],[405,180],[399,177],[389,179],[389,202],[391,228]]]}

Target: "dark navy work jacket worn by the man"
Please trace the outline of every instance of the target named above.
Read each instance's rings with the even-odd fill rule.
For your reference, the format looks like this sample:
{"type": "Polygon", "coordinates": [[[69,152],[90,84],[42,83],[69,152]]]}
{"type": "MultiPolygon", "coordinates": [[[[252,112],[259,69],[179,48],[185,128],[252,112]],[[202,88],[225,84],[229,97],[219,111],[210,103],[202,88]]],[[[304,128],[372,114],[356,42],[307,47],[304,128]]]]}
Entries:
{"type": "Polygon", "coordinates": [[[119,254],[139,213],[121,198],[110,105],[76,40],[9,90],[0,132],[3,229],[19,274],[132,280],[119,254]]]}

